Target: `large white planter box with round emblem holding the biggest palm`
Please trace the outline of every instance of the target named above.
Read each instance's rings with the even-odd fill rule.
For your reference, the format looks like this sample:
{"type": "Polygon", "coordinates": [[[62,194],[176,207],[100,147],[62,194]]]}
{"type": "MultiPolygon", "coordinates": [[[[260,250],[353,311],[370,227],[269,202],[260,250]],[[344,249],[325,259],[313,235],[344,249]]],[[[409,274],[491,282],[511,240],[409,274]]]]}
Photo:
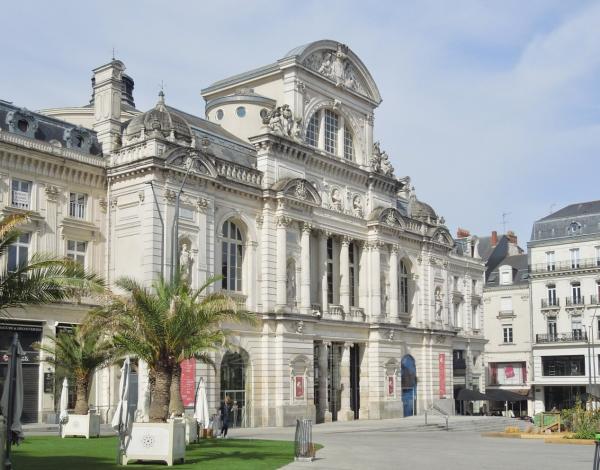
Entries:
{"type": "Polygon", "coordinates": [[[130,460],[162,461],[171,466],[185,460],[185,423],[133,423],[131,437],[125,438],[123,465],[130,460]]]}

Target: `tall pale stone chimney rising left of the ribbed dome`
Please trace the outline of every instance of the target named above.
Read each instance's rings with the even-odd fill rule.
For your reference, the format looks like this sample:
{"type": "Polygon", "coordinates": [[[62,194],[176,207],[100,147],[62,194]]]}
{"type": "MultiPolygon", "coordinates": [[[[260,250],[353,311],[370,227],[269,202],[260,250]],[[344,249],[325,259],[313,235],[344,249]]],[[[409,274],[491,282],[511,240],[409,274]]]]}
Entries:
{"type": "Polygon", "coordinates": [[[94,69],[94,130],[102,144],[102,153],[109,155],[118,147],[121,137],[121,94],[125,65],[112,60],[94,69]]]}

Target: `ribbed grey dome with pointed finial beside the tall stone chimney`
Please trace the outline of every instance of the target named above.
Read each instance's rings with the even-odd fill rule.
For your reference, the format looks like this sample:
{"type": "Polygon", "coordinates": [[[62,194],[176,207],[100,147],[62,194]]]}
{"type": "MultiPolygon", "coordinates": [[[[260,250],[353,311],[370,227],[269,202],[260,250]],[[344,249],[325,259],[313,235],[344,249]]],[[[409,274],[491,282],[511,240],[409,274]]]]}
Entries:
{"type": "Polygon", "coordinates": [[[156,106],[145,113],[138,114],[135,116],[125,129],[126,137],[133,137],[138,135],[141,130],[149,134],[151,132],[158,132],[163,137],[169,137],[171,132],[175,135],[178,140],[185,140],[186,142],[192,141],[192,131],[185,120],[170,112],[165,106],[165,94],[161,91],[158,94],[158,103],[156,106]]]}

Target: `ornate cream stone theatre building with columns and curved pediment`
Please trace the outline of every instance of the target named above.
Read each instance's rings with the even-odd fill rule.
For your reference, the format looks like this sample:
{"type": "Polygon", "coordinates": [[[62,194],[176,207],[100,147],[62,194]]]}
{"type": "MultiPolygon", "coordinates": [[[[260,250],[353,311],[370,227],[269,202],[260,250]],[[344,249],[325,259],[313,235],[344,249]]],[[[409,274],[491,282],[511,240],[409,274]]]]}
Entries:
{"type": "MultiPolygon", "coordinates": [[[[150,284],[176,266],[193,286],[222,275],[214,288],[259,325],[230,325],[216,370],[186,363],[182,391],[190,405],[204,377],[211,407],[230,395],[247,426],[450,409],[456,388],[484,387],[477,240],[454,239],[398,177],[374,138],[379,90],[352,50],[317,41],[216,82],[202,90],[204,118],[162,92],[137,110],[124,70],[96,68],[82,107],[0,101],[0,205],[34,214],[9,264],[43,250],[109,282],[150,284]]],[[[12,331],[34,341],[88,308],[12,312],[2,347],[12,331]]],[[[44,421],[52,369],[30,354],[29,416],[44,421]]],[[[96,374],[104,419],[117,383],[114,369],[96,374]]]]}

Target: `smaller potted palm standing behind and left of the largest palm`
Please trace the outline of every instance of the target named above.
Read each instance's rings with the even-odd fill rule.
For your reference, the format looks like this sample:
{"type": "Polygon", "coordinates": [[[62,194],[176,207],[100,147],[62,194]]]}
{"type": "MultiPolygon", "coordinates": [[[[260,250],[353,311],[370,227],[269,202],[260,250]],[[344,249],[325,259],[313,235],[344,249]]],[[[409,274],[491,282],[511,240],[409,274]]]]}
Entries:
{"type": "Polygon", "coordinates": [[[75,414],[88,413],[90,384],[94,371],[109,364],[112,346],[99,330],[75,327],[72,332],[60,333],[56,338],[46,336],[50,344],[34,346],[47,353],[44,360],[72,374],[75,379],[75,414]]]}

